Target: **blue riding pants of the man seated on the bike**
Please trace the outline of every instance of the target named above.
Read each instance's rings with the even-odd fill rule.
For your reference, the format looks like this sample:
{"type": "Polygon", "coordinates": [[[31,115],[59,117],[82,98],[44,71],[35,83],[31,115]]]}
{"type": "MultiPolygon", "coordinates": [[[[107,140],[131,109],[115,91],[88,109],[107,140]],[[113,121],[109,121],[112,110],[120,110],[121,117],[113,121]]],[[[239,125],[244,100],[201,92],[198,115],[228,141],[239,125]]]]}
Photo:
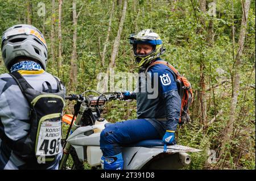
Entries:
{"type": "Polygon", "coordinates": [[[121,153],[121,146],[142,140],[162,139],[155,127],[145,119],[107,124],[101,132],[100,148],[105,157],[121,153]]]}

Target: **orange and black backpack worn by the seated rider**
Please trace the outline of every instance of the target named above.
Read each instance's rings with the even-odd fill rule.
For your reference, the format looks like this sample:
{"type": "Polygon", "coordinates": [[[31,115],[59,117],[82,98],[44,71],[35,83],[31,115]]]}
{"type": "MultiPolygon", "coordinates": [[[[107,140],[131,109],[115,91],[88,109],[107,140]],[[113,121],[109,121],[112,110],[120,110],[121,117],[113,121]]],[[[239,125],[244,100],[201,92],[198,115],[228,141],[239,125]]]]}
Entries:
{"type": "MultiPolygon", "coordinates": [[[[189,117],[189,106],[193,102],[193,92],[192,92],[192,86],[191,83],[188,82],[187,78],[183,77],[177,71],[169,62],[167,61],[155,61],[150,66],[148,66],[147,70],[156,64],[163,64],[168,66],[170,68],[176,77],[176,85],[177,85],[177,90],[180,95],[181,99],[181,109],[180,109],[180,118],[179,118],[179,124],[182,125],[184,123],[189,123],[190,122],[190,117],[189,117]]],[[[146,72],[147,72],[146,70],[146,72]]]]}

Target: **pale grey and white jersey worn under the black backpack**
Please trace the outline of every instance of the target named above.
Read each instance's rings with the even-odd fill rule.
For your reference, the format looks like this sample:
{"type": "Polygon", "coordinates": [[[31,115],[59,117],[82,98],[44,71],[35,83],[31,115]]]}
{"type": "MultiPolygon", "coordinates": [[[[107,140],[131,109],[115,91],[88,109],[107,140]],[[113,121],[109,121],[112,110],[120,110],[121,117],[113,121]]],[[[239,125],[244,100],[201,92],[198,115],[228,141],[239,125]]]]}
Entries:
{"type": "MultiPolygon", "coordinates": [[[[48,82],[52,90],[57,90],[57,81],[53,75],[41,70],[18,70],[24,79],[38,91],[43,91],[43,83],[48,82]]],[[[7,136],[16,141],[23,138],[30,130],[28,116],[30,106],[19,86],[9,74],[0,75],[0,136],[7,136]]],[[[57,169],[62,153],[54,163],[29,165],[17,157],[13,150],[0,137],[1,169],[57,169]]],[[[62,150],[62,149],[61,149],[62,150]]]]}

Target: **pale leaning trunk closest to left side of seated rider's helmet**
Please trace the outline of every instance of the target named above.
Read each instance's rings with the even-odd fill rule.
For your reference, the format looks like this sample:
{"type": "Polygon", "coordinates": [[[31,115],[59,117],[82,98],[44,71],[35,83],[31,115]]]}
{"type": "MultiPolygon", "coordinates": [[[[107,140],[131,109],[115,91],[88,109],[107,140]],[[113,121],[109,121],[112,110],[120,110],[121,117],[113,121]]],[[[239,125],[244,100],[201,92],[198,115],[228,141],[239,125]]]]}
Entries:
{"type": "Polygon", "coordinates": [[[119,22],[117,36],[115,37],[115,40],[114,40],[113,50],[110,58],[110,67],[112,68],[114,68],[115,66],[115,57],[117,57],[118,55],[119,43],[120,43],[121,33],[123,30],[123,23],[125,22],[126,8],[127,8],[127,0],[125,0],[123,3],[122,16],[119,22]]]}

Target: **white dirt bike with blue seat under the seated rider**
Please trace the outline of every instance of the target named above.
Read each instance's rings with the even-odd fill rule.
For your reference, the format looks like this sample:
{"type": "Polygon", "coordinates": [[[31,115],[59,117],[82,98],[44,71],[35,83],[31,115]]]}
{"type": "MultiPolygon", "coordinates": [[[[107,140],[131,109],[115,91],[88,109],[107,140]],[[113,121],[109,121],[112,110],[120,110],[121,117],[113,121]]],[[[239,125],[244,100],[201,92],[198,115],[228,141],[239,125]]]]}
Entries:
{"type": "MultiPolygon", "coordinates": [[[[65,97],[68,100],[76,100],[76,105],[74,115],[63,116],[63,121],[70,126],[63,140],[63,157],[59,169],[84,169],[84,161],[87,161],[92,169],[102,167],[100,133],[106,124],[112,123],[101,117],[101,112],[106,102],[122,100],[123,94],[122,92],[102,94],[97,92],[97,94],[97,96],[73,94],[65,97]],[[67,167],[69,154],[73,159],[72,167],[67,167]]],[[[166,146],[162,140],[144,140],[122,145],[123,169],[181,169],[191,162],[187,152],[197,151],[201,150],[182,145],[166,146]]]]}

